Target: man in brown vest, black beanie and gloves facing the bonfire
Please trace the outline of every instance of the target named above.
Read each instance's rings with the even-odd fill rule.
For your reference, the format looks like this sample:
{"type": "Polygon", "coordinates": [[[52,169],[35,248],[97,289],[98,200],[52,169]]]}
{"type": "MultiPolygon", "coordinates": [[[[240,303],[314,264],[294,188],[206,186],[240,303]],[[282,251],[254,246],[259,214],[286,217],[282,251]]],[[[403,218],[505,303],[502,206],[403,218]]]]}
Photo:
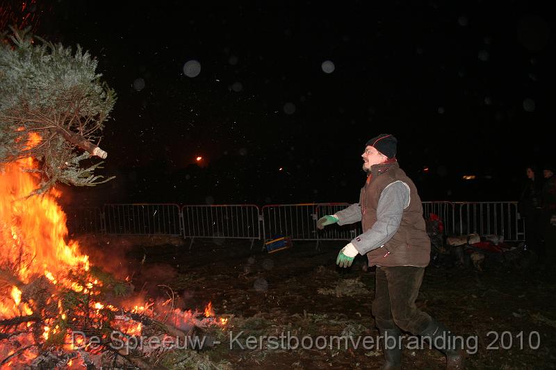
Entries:
{"type": "Polygon", "coordinates": [[[356,255],[366,254],[369,265],[377,266],[373,315],[384,338],[382,369],[401,368],[401,330],[430,340],[446,355],[446,369],[463,369],[463,338],[415,305],[430,262],[430,239],[417,189],[395,158],[397,142],[389,134],[367,142],[361,155],[367,180],[359,203],[322,217],[317,227],[361,221],[363,233],[343,247],[336,264],[350,267],[356,255]]]}

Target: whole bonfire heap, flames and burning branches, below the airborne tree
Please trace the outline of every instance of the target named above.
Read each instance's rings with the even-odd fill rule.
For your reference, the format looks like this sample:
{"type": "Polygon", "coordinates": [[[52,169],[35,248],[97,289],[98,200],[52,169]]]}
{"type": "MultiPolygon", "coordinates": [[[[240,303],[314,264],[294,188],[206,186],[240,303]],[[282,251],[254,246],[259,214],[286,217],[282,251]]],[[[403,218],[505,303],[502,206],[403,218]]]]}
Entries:
{"type": "Polygon", "coordinates": [[[60,194],[28,196],[38,180],[32,168],[26,158],[0,174],[1,368],[150,368],[168,351],[213,345],[206,328],[226,319],[210,303],[204,312],[181,310],[169,287],[146,300],[65,242],[60,194]]]}

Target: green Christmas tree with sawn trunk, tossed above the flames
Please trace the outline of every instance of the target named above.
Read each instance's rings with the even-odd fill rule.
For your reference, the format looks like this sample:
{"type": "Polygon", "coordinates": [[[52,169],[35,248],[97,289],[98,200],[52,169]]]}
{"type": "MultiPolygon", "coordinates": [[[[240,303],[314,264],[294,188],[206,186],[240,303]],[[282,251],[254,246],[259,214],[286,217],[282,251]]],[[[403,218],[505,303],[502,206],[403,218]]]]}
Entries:
{"type": "Polygon", "coordinates": [[[38,161],[40,183],[34,193],[56,182],[94,186],[111,178],[95,174],[106,158],[99,146],[116,96],[97,60],[26,30],[3,33],[0,46],[0,171],[21,158],[38,161]],[[29,144],[29,137],[35,143],[29,144]]]}

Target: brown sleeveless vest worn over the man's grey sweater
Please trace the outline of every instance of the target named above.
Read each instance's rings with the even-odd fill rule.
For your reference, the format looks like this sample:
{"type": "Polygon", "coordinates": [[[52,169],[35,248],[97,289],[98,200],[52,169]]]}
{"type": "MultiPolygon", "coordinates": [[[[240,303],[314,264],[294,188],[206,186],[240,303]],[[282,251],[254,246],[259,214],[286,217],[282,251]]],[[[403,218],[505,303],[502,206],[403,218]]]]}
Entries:
{"type": "Polygon", "coordinates": [[[377,221],[377,205],[382,190],[391,183],[402,180],[409,185],[409,206],[404,209],[398,231],[384,244],[367,253],[369,265],[426,267],[430,261],[430,239],[425,230],[423,205],[415,184],[398,162],[371,167],[370,179],[361,189],[361,224],[363,233],[377,221]]]}

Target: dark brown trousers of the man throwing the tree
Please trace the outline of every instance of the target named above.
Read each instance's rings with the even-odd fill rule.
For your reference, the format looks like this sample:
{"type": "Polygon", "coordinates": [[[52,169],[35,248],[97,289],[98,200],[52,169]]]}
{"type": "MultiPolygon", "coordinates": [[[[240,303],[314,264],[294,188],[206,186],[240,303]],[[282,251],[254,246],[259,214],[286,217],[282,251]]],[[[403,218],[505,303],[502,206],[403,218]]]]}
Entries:
{"type": "Polygon", "coordinates": [[[373,316],[379,329],[400,329],[417,335],[432,318],[418,310],[415,300],[423,282],[425,267],[377,267],[373,316]]]}

